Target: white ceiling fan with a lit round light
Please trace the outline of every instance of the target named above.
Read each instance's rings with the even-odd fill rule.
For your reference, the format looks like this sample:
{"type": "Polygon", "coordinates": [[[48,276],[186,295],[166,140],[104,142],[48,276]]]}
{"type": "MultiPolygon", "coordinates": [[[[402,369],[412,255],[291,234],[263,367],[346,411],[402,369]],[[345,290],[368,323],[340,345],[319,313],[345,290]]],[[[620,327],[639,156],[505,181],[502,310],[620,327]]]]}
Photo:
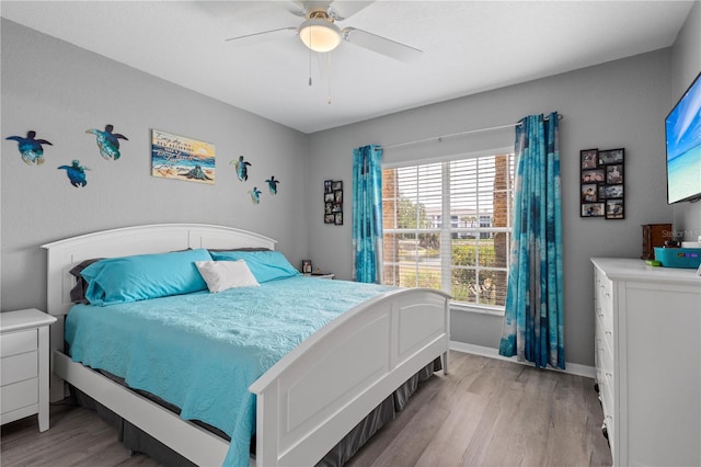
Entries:
{"type": "Polygon", "coordinates": [[[304,18],[298,26],[279,27],[260,33],[230,37],[226,41],[255,39],[262,36],[297,35],[310,50],[326,53],[335,49],[341,42],[347,42],[387,57],[402,61],[411,61],[422,55],[422,50],[399,42],[355,27],[341,29],[342,22],[365,9],[372,1],[327,0],[327,1],[292,1],[290,13],[304,18]]]}

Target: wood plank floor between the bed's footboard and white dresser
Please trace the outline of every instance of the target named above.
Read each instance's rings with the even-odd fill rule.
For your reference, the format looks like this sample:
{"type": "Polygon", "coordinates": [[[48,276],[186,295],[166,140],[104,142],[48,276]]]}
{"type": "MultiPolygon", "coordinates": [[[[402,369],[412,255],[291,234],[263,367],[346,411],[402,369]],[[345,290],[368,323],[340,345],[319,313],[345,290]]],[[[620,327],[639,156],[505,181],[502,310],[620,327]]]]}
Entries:
{"type": "Polygon", "coordinates": [[[450,353],[350,466],[610,466],[594,380],[450,353]]]}

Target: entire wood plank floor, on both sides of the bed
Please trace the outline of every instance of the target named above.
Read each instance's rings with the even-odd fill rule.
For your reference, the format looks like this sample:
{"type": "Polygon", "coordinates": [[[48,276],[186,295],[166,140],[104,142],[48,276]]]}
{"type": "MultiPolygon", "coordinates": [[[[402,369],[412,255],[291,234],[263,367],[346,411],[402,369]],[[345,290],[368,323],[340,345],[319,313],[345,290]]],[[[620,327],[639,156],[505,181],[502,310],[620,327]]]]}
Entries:
{"type": "MultiPolygon", "coordinates": [[[[610,466],[594,380],[451,352],[450,374],[420,386],[350,466],[610,466]]],[[[157,466],[130,456],[94,413],[51,407],[2,426],[2,466],[157,466]]]]}

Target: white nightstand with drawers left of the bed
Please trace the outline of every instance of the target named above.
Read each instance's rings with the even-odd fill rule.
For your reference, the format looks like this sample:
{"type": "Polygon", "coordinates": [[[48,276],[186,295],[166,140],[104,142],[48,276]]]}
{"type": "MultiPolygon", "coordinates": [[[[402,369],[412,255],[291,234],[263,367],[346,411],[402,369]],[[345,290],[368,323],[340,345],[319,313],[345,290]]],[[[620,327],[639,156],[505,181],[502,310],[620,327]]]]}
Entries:
{"type": "Polygon", "coordinates": [[[38,413],[48,430],[48,328],[35,308],[0,314],[0,424],[38,413]]]}

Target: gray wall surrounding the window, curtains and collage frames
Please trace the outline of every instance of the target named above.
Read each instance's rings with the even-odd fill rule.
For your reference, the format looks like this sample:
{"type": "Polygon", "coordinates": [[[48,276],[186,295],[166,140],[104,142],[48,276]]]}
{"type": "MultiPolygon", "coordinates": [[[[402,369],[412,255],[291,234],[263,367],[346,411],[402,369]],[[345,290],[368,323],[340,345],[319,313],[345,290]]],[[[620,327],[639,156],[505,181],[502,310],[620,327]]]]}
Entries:
{"type": "MultiPolygon", "coordinates": [[[[525,115],[558,111],[561,122],[564,235],[565,352],[567,362],[594,364],[590,257],[639,258],[641,224],[669,223],[666,204],[664,118],[669,111],[670,49],[586,68],[525,84],[376,118],[311,137],[306,193],[312,260],[348,278],[350,226],[323,225],[324,179],[352,181],[352,148],[485,128],[525,115]],[[579,217],[579,150],[625,148],[625,219],[579,217]],[[313,246],[313,248],[311,248],[313,246]]],[[[478,134],[410,149],[388,149],[386,161],[425,159],[513,146],[513,129],[478,134]]],[[[345,216],[349,221],[349,216],[345,216]]],[[[452,340],[497,348],[502,318],[453,311],[452,340]]]]}

